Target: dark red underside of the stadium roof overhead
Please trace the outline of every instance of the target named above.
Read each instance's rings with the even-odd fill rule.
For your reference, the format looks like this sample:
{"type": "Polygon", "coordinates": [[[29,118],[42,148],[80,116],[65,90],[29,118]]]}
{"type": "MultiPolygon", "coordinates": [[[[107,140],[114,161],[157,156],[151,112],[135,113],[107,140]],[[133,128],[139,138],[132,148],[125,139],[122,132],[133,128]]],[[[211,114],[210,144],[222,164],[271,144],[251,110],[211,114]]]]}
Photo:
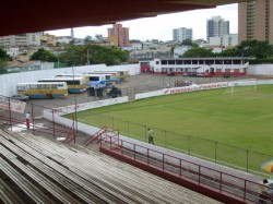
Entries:
{"type": "Polygon", "coordinates": [[[0,36],[97,26],[246,0],[12,0],[0,7],[0,36]]]}

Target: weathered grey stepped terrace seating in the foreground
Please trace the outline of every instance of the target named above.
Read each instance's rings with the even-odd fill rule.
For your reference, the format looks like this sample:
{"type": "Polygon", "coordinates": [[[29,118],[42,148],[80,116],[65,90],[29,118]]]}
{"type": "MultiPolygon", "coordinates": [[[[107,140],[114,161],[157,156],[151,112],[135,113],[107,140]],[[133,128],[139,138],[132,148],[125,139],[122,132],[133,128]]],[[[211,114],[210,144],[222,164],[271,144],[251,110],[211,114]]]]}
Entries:
{"type": "Polygon", "coordinates": [[[0,154],[3,203],[218,203],[98,152],[41,136],[0,130],[0,154]]]}

